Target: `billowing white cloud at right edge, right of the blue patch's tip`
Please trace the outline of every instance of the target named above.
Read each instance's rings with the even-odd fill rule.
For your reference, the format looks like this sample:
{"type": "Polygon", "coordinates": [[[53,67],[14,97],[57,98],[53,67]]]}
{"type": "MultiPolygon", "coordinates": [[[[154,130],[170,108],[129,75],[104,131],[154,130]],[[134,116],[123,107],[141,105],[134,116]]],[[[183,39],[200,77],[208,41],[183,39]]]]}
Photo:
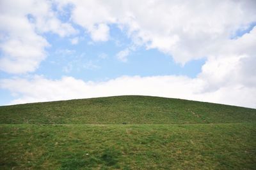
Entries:
{"type": "Polygon", "coordinates": [[[207,81],[205,90],[226,85],[256,87],[256,27],[240,38],[227,40],[210,55],[198,77],[207,81]]]}

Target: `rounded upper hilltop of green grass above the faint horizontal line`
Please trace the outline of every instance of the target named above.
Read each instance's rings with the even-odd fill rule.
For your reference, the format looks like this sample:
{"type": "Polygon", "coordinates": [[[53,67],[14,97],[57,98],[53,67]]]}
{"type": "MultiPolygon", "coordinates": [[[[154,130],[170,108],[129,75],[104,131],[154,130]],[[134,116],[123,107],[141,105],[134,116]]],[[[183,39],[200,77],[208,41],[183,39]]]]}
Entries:
{"type": "Polygon", "coordinates": [[[0,107],[1,124],[204,124],[255,122],[256,110],[148,96],[0,107]]]}

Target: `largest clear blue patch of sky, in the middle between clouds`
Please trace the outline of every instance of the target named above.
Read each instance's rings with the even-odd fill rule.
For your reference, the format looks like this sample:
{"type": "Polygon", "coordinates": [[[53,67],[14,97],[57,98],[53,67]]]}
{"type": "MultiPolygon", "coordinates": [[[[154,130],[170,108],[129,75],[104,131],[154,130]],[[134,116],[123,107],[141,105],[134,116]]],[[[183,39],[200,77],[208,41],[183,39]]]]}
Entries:
{"type": "Polygon", "coordinates": [[[204,59],[191,60],[184,66],[176,63],[170,55],[156,49],[146,50],[140,46],[129,54],[127,62],[116,59],[120,52],[132,42],[126,35],[113,28],[108,43],[88,43],[89,37],[77,45],[70,45],[69,39],[47,35],[51,47],[47,52],[49,57],[44,60],[37,74],[44,74],[48,78],[60,78],[63,75],[75,76],[83,80],[108,80],[118,76],[156,76],[156,75],[187,75],[191,78],[200,73],[204,59]],[[122,41],[120,41],[122,40],[122,41]],[[116,45],[116,41],[122,44],[116,45]],[[143,67],[141,67],[143,66],[143,67]]]}

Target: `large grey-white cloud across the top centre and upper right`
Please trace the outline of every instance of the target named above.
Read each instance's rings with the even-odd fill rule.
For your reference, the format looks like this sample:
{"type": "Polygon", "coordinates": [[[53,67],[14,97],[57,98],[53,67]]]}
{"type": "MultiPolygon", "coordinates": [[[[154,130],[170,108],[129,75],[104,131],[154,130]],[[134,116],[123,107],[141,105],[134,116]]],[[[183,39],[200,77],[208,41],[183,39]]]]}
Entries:
{"type": "Polygon", "coordinates": [[[60,8],[72,4],[72,21],[94,41],[108,40],[108,25],[116,24],[134,44],[157,48],[181,64],[217,55],[223,43],[236,41],[230,37],[237,30],[246,30],[256,21],[253,0],[56,2],[60,8]]]}

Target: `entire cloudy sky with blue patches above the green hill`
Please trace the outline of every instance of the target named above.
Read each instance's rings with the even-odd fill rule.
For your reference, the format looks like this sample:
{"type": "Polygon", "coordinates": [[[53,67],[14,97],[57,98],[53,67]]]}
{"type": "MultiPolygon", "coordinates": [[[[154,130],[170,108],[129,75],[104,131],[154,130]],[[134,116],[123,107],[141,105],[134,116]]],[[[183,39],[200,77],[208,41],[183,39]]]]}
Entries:
{"type": "Polygon", "coordinates": [[[0,0],[0,105],[145,95],[256,108],[255,0],[0,0]]]}

